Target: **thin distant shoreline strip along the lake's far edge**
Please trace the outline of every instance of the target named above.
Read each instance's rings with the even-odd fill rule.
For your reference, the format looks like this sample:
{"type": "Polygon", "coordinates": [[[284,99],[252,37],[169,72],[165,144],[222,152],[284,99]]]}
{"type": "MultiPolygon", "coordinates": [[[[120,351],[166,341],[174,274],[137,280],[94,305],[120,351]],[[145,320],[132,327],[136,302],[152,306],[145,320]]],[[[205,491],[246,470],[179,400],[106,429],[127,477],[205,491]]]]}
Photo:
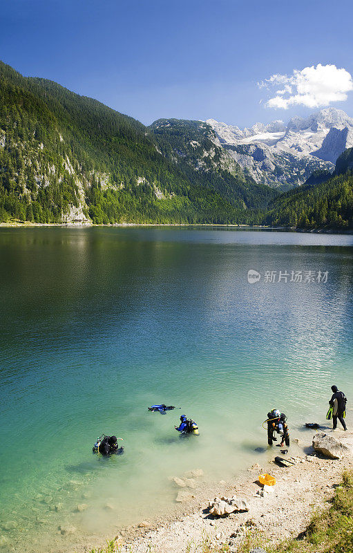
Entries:
{"type": "Polygon", "coordinates": [[[95,223],[30,223],[29,221],[10,221],[0,223],[0,228],[35,228],[35,227],[69,227],[69,228],[90,228],[90,227],[222,227],[238,229],[263,229],[286,232],[303,232],[305,234],[353,234],[353,229],[298,229],[295,227],[271,227],[270,225],[245,225],[237,223],[112,223],[97,225],[95,223]]]}

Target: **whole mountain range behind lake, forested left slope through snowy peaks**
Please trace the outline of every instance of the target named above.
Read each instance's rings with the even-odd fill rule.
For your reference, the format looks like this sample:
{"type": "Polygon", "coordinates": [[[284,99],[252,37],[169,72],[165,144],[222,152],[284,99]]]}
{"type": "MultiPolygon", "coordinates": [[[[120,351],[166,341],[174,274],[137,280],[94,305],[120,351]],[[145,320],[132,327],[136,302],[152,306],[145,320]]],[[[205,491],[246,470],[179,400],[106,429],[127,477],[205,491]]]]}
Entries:
{"type": "MultiPolygon", "coordinates": [[[[345,151],[340,174],[350,174],[352,133],[336,109],[243,130],[215,120],[144,126],[0,62],[0,221],[305,226],[296,205],[280,212],[280,198],[287,206],[285,191],[315,187],[321,200],[332,179],[350,182],[334,161],[345,151]]],[[[348,192],[338,194],[345,207],[348,192]]],[[[330,221],[347,226],[343,204],[342,222],[339,203],[330,221]]]]}

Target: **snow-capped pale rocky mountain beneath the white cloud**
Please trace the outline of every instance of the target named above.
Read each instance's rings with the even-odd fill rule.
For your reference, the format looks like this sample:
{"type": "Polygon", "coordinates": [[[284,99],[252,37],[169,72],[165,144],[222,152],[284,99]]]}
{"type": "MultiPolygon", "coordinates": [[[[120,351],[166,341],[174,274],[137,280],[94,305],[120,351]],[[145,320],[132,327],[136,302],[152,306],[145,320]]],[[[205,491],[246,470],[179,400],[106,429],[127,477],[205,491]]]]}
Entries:
{"type": "Polygon", "coordinates": [[[207,120],[220,144],[256,182],[300,185],[315,169],[333,169],[338,156],[353,146],[353,118],[327,108],[307,118],[293,117],[249,129],[207,120]]]}

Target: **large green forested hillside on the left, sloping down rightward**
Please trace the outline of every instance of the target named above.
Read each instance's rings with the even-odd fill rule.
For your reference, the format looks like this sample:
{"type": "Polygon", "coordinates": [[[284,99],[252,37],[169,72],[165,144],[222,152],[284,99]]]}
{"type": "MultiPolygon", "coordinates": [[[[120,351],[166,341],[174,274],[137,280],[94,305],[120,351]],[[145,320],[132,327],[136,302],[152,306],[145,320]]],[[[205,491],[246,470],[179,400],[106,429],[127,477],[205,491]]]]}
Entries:
{"type": "Polygon", "coordinates": [[[0,62],[0,221],[237,223],[276,193],[175,157],[160,133],[0,62]]]}

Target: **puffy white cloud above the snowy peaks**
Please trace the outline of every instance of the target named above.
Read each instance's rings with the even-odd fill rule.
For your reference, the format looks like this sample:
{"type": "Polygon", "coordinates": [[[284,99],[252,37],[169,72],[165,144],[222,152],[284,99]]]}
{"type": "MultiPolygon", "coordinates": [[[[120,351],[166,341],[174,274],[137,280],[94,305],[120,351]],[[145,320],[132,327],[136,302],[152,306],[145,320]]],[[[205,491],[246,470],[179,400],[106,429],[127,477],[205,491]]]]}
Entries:
{"type": "Polygon", "coordinates": [[[352,76],[346,69],[335,65],[305,67],[295,69],[292,75],[271,75],[269,79],[258,83],[260,88],[282,86],[273,97],[267,100],[269,108],[288,109],[294,104],[318,108],[332,102],[347,100],[347,92],[353,90],[352,76]]]}

